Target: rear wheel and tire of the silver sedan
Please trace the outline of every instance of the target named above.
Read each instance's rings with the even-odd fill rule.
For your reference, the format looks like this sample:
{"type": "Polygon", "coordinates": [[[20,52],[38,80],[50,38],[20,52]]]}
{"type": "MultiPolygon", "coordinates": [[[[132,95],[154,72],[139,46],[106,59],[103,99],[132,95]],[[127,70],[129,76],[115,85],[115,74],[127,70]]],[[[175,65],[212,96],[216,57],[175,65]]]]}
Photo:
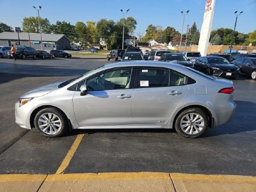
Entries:
{"type": "Polygon", "coordinates": [[[202,135],[209,126],[209,118],[200,108],[183,111],[176,119],[175,130],[184,137],[196,138],[202,135]]]}

